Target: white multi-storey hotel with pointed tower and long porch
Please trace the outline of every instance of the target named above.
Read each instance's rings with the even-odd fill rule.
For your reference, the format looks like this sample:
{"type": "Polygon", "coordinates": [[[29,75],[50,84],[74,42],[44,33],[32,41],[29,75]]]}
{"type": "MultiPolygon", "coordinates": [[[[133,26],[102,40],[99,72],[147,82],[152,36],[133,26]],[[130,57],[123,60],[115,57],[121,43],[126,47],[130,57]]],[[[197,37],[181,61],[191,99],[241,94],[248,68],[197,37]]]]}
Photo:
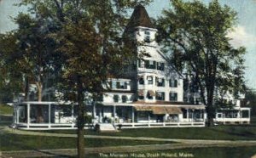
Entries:
{"type": "MultiPolygon", "coordinates": [[[[92,124],[107,127],[204,127],[205,105],[183,102],[183,76],[173,71],[155,42],[157,30],[143,6],[131,15],[126,33],[143,43],[137,54],[147,53],[122,78],[109,78],[110,90],[87,105],[92,124]]],[[[22,129],[70,129],[76,127],[76,105],[25,102],[15,105],[15,127],[22,129]],[[37,106],[44,110],[38,122],[37,106]]]]}

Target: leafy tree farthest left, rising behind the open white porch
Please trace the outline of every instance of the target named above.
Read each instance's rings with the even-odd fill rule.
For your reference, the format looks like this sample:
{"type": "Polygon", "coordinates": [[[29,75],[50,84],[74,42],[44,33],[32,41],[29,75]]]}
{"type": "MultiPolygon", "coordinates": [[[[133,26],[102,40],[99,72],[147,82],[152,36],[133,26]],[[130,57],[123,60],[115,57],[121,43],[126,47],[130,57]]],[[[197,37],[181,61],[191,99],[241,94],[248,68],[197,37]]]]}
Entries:
{"type": "MultiPolygon", "coordinates": [[[[60,68],[60,54],[55,49],[55,41],[49,33],[56,30],[55,25],[48,19],[32,17],[30,14],[18,14],[15,23],[19,28],[3,36],[3,55],[6,61],[7,74],[15,77],[17,81],[9,81],[10,85],[25,83],[23,92],[29,100],[29,84],[34,83],[38,89],[38,101],[43,99],[43,89],[48,78],[53,76],[60,68]]],[[[3,69],[2,69],[3,72],[3,69]]],[[[37,121],[42,122],[43,108],[38,106],[37,121]]]]}

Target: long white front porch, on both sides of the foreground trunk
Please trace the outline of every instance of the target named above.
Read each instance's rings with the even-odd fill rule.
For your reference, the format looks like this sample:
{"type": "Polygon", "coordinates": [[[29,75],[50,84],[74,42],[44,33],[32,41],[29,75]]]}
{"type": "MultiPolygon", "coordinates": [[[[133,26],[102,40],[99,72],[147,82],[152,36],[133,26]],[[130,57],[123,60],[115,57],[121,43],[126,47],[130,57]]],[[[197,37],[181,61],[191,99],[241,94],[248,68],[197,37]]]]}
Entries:
{"type": "MultiPolygon", "coordinates": [[[[135,104],[88,105],[92,128],[97,123],[114,127],[204,127],[204,106],[145,106],[135,104]]],[[[24,102],[15,104],[14,127],[26,130],[75,129],[78,114],[76,104],[55,102],[24,102]]]]}

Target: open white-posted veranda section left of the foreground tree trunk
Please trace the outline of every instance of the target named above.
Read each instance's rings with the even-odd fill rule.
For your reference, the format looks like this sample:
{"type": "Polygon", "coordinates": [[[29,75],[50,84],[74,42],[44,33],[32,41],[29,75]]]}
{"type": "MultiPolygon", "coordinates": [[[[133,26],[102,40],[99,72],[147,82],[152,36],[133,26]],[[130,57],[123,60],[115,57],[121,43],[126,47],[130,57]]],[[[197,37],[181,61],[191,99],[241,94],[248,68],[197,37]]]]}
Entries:
{"type": "MultiPolygon", "coordinates": [[[[86,110],[90,109],[90,106],[86,107],[86,110]]],[[[26,130],[74,129],[77,114],[77,104],[22,102],[14,106],[13,126],[26,130]]]]}

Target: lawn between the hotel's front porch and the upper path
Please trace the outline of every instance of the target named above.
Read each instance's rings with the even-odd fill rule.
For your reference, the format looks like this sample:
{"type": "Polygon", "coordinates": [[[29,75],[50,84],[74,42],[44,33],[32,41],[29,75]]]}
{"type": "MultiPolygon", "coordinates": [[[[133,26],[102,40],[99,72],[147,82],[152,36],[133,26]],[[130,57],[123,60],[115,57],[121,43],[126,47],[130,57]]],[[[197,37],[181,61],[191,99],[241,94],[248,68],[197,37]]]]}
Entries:
{"type": "MultiPolygon", "coordinates": [[[[45,133],[73,133],[75,130],[50,130],[45,133]]],[[[119,133],[96,133],[85,130],[89,135],[153,137],[153,138],[193,138],[224,140],[256,140],[255,125],[225,125],[216,127],[162,127],[122,129],[119,133]]]]}

